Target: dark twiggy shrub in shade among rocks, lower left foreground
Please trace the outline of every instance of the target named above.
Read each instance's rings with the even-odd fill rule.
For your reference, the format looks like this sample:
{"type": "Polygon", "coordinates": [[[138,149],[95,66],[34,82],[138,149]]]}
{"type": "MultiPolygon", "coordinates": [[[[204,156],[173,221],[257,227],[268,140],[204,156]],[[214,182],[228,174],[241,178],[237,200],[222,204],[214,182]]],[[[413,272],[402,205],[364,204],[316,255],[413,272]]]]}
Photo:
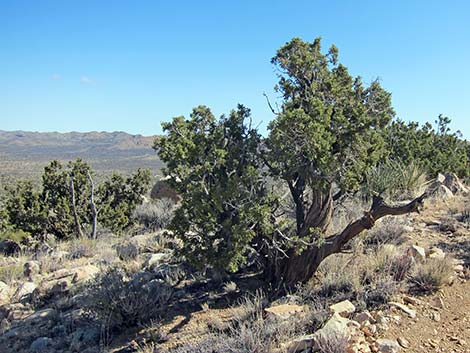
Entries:
{"type": "Polygon", "coordinates": [[[155,319],[171,299],[170,283],[129,270],[111,268],[98,276],[88,290],[88,311],[119,330],[155,319]]]}

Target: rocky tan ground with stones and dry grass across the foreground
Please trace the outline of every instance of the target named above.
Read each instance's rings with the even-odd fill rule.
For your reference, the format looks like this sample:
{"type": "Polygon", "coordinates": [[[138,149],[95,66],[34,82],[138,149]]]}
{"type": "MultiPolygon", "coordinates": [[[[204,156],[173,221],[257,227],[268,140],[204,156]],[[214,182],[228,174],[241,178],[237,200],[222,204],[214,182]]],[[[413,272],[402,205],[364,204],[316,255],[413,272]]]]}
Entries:
{"type": "MultiPolygon", "coordinates": [[[[400,219],[399,245],[382,246],[382,252],[372,255],[361,250],[364,261],[377,260],[385,249],[393,251],[394,258],[412,259],[418,269],[432,261],[447,261],[451,272],[439,290],[412,291],[404,280],[403,288],[371,307],[348,293],[332,294],[325,301],[326,319],[319,330],[304,327],[288,333],[284,326],[311,323],[307,318],[318,312],[304,301],[304,294],[273,303],[252,294],[258,305],[241,299],[259,293],[255,274],[234,276],[220,286],[196,275],[168,275],[173,273],[172,251],[178,243],[164,232],[63,243],[46,239],[47,245],[34,252],[0,258],[0,352],[209,352],[195,344],[216,339],[214,332],[223,332],[217,333],[219,341],[230,338],[230,352],[237,352],[235,338],[256,338],[259,333],[240,319],[240,312],[251,310],[249,303],[261,308],[255,321],[264,325],[263,330],[267,323],[278,325],[274,336],[259,340],[282,337],[282,342],[272,349],[266,345],[264,350],[244,352],[470,352],[469,210],[470,195],[444,190],[426,202],[421,214],[400,219]],[[105,295],[103,290],[108,290],[105,295]],[[162,294],[166,291],[168,297],[162,294]],[[111,311],[103,315],[106,310],[111,311]],[[141,322],[144,317],[148,320],[141,322]],[[234,317],[240,330],[235,334],[230,333],[234,317]],[[188,344],[193,348],[184,348],[188,344]]],[[[391,228],[383,229],[386,234],[391,228]]],[[[367,242],[354,247],[362,249],[367,242]]],[[[353,254],[341,256],[354,257],[358,250],[350,251],[353,254]]],[[[327,278],[319,276],[311,287],[324,286],[327,278]]]]}

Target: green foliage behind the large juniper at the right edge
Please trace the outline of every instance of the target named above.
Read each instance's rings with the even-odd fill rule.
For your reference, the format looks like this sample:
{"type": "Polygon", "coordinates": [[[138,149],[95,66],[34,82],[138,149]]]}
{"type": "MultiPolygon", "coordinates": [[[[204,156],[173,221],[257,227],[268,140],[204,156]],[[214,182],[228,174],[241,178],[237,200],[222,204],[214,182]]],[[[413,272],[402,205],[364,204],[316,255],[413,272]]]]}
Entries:
{"type": "Polygon", "coordinates": [[[390,158],[417,163],[431,176],[445,172],[470,176],[470,143],[460,132],[450,131],[450,121],[439,115],[434,128],[430,123],[419,127],[415,122],[394,121],[385,132],[390,158]]]}

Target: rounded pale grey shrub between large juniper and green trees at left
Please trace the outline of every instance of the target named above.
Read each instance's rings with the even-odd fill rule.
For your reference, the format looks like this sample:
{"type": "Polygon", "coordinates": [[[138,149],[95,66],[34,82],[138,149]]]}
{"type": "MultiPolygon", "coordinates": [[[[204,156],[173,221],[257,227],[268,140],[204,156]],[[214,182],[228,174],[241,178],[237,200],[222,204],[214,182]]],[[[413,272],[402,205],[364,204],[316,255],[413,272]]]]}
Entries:
{"type": "Polygon", "coordinates": [[[176,203],[168,198],[137,206],[134,218],[149,231],[165,229],[173,218],[176,203]]]}

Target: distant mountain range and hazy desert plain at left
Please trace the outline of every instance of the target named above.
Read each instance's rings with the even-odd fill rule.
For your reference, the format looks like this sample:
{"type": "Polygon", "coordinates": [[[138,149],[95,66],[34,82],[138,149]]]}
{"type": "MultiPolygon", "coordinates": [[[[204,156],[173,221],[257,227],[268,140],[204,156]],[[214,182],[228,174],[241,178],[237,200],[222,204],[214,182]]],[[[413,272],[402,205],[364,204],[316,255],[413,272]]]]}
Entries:
{"type": "Polygon", "coordinates": [[[157,136],[126,132],[30,132],[0,130],[0,176],[35,178],[53,159],[82,158],[100,174],[130,173],[148,168],[158,173],[162,163],[152,149],[157,136]]]}

